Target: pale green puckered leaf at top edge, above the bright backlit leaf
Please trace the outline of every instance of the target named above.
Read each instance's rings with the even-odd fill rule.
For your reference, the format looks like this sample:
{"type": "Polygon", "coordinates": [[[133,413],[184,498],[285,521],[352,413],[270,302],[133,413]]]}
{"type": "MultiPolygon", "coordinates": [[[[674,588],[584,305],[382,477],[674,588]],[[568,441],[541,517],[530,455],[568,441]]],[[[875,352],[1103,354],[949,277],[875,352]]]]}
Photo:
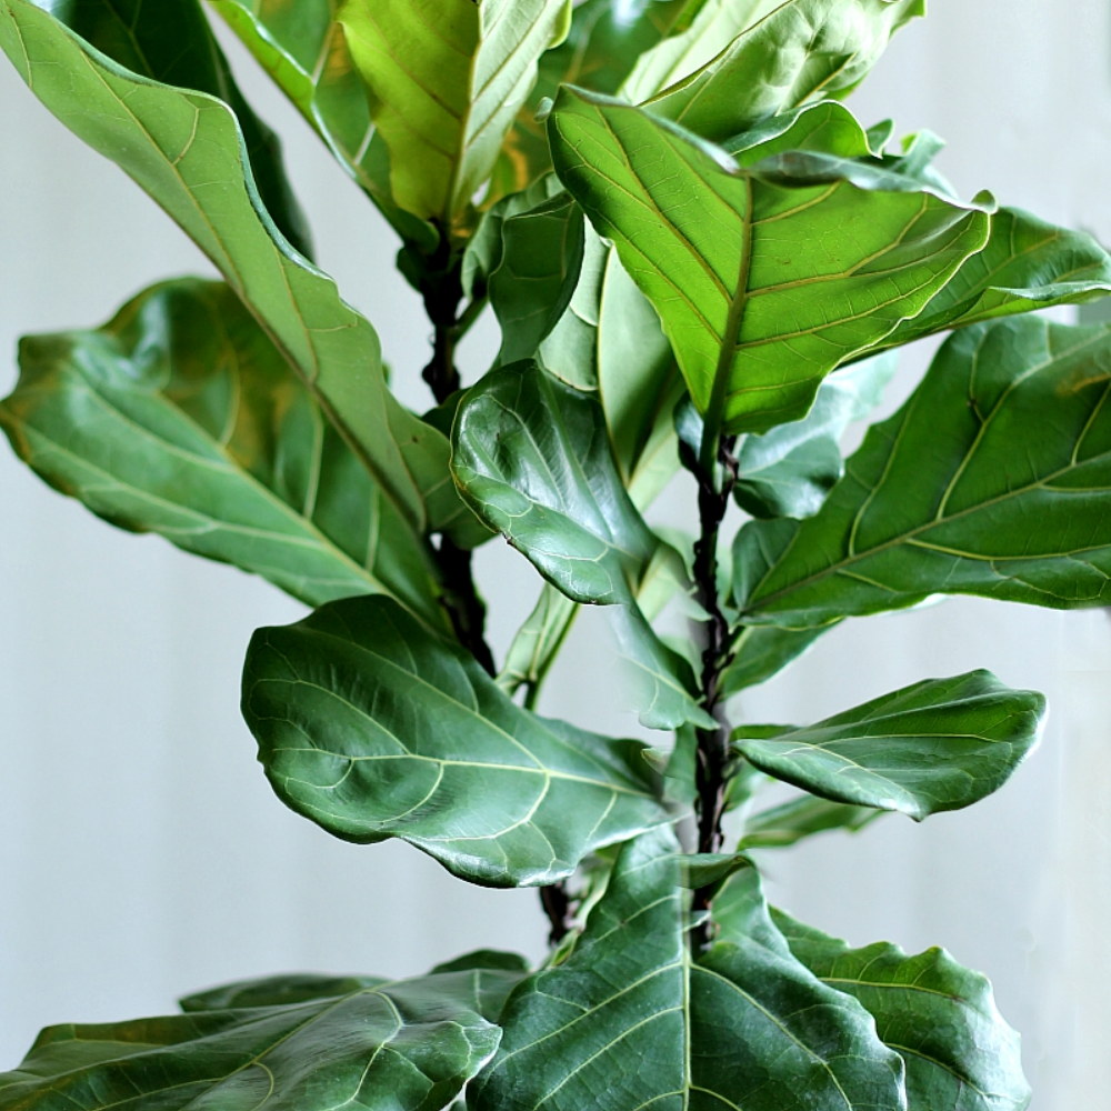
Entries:
{"type": "Polygon", "coordinates": [[[924,0],[709,0],[690,29],[641,58],[625,92],[721,141],[868,74],[924,0]],[[657,96],[652,96],[658,93],[657,96]]]}

